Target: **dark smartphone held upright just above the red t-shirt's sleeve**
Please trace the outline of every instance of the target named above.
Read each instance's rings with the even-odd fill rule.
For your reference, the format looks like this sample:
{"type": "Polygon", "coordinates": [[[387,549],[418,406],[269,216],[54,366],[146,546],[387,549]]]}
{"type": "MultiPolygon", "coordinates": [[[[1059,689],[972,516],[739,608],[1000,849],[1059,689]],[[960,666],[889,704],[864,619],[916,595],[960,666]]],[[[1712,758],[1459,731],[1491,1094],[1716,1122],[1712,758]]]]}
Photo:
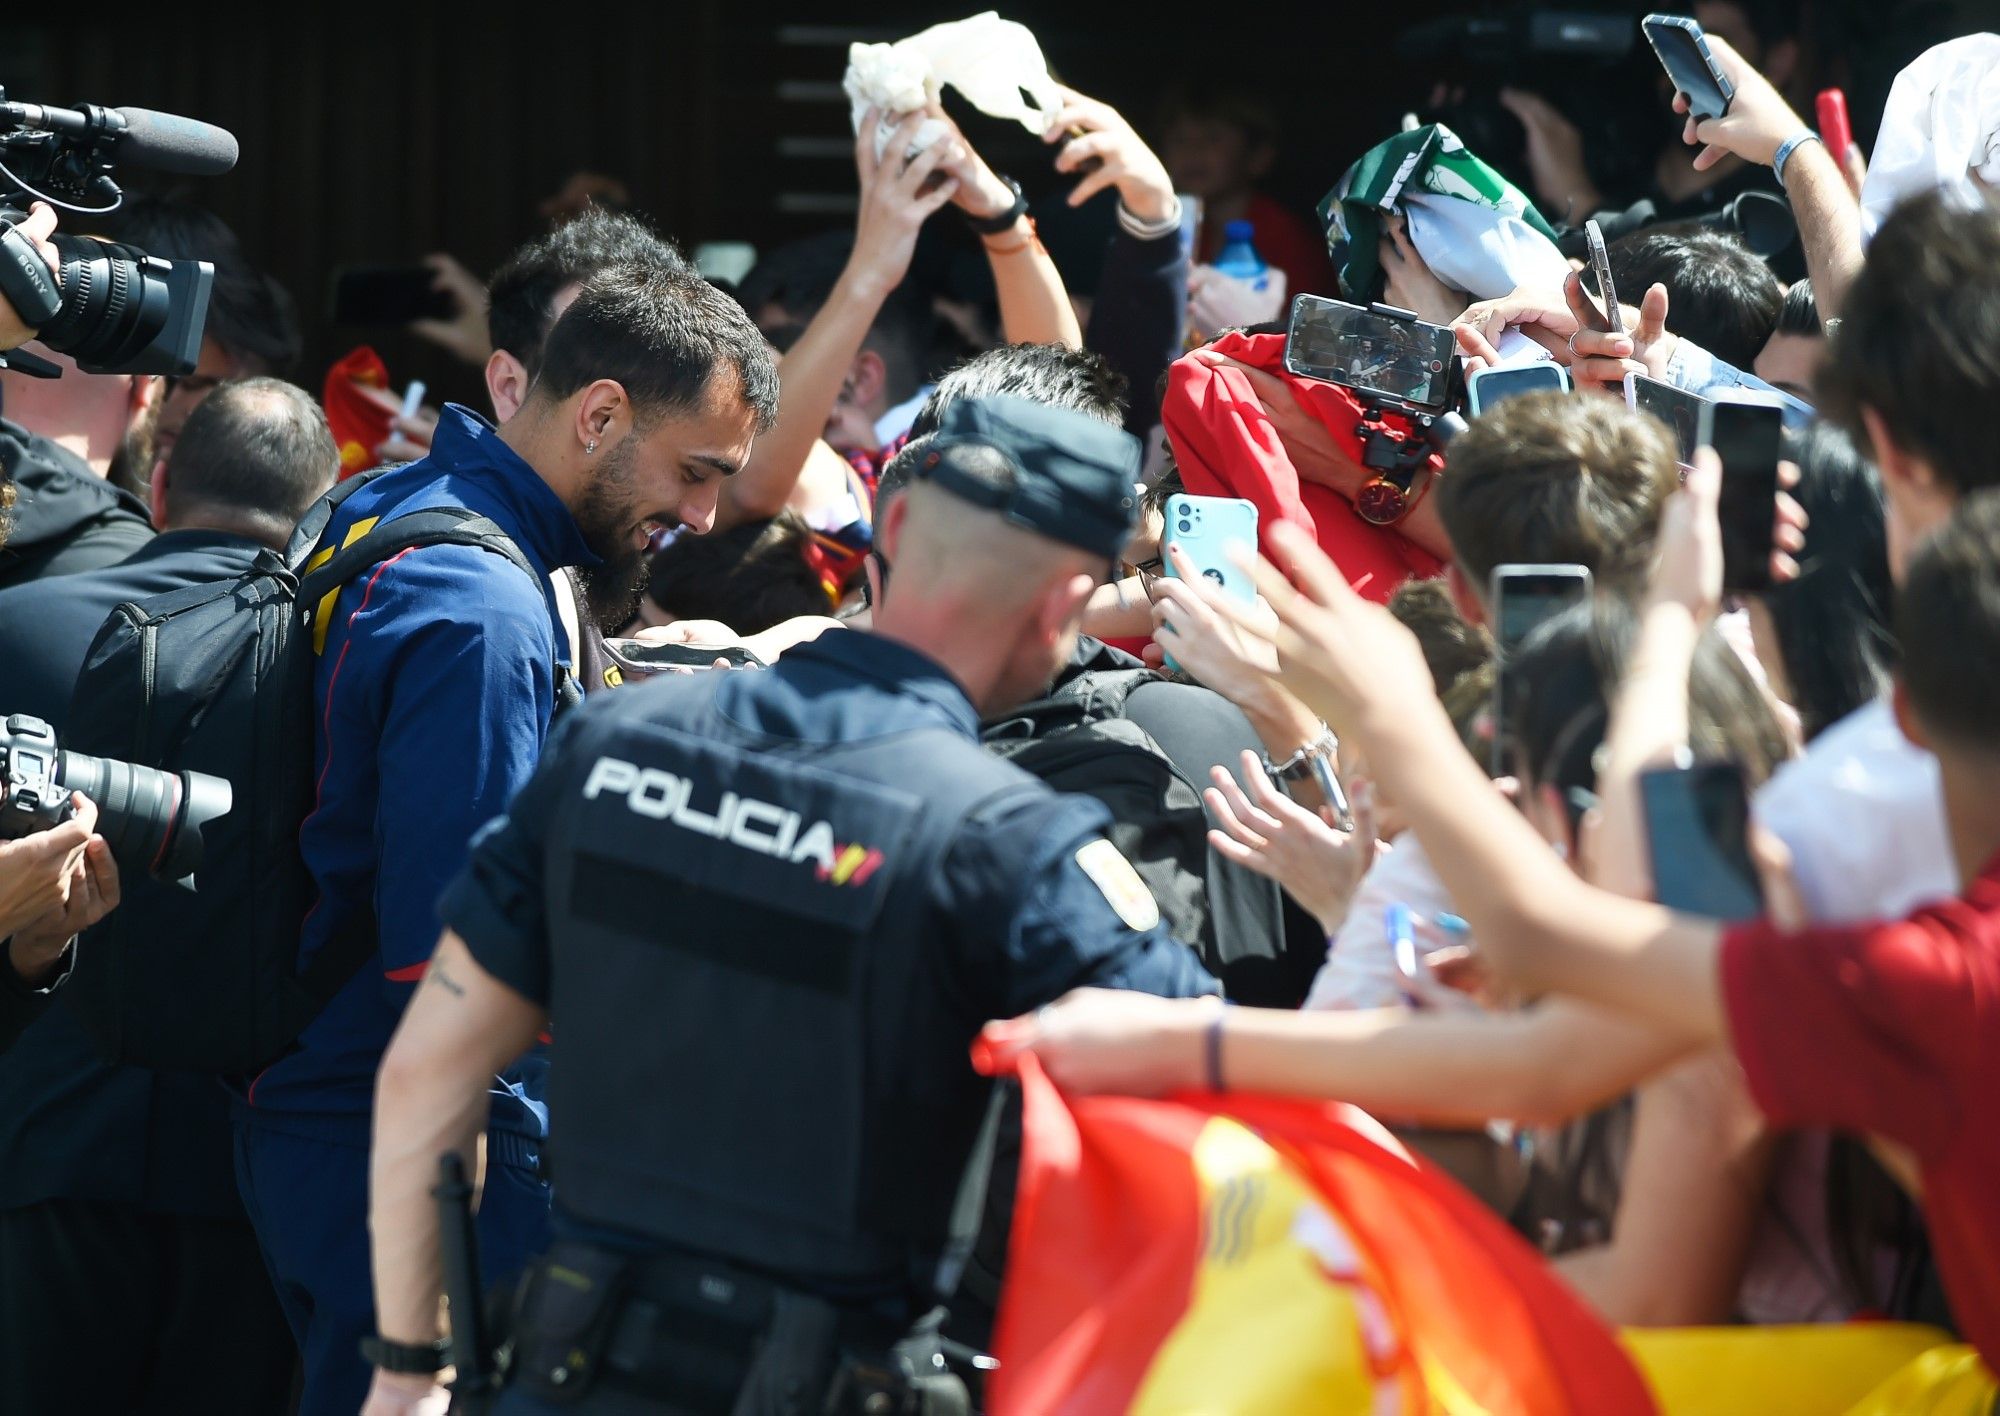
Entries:
{"type": "Polygon", "coordinates": [[[1750,792],[1734,762],[1658,768],[1638,778],[1652,894],[1670,910],[1752,920],[1764,890],[1750,860],[1750,792]]]}

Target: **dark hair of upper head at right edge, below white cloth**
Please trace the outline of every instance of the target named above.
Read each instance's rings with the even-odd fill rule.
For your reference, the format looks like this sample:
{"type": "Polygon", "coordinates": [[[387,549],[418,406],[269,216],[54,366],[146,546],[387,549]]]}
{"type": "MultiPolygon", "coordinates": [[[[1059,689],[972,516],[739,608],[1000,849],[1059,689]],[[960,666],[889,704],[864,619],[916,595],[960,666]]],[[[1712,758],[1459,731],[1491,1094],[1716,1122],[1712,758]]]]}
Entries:
{"type": "Polygon", "coordinates": [[[1818,390],[1856,444],[1872,408],[1944,486],[2000,484],[2000,212],[1934,192],[1890,212],[1840,302],[1818,390]]]}

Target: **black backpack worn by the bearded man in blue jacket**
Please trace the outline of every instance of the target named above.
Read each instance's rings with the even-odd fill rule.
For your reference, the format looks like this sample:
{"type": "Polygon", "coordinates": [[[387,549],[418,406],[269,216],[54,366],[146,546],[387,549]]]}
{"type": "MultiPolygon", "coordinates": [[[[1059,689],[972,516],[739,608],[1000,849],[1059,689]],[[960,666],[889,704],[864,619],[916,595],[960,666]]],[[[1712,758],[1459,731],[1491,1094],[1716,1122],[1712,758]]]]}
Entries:
{"type": "Polygon", "coordinates": [[[540,572],[498,524],[462,508],[396,516],[320,552],[334,510],[372,476],[320,498],[282,556],[266,550],[230,580],[122,604],[90,646],[64,748],[208,772],[234,798],[202,832],[194,892],[126,870],[122,904],[78,946],[64,998],[112,1060],[254,1072],[374,954],[370,918],[298,970],[314,900],[298,850],[314,804],[314,606],[416,546],[478,546],[540,572]]]}

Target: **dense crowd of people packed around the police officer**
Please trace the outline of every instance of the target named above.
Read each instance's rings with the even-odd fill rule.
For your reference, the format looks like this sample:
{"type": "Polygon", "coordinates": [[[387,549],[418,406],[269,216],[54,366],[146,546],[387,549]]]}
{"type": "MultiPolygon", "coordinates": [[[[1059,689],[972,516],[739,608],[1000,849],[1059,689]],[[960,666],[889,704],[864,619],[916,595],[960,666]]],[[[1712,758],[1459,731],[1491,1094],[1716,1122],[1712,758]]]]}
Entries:
{"type": "MultiPolygon", "coordinates": [[[[134,880],[92,834],[98,806],[0,842],[0,1408],[428,1410],[424,1382],[370,1392],[360,1356],[390,1330],[378,1294],[400,1262],[378,1236],[370,1274],[370,1118],[468,842],[578,688],[588,718],[650,674],[762,672],[868,632],[906,574],[878,528],[952,442],[952,410],[996,398],[1124,428],[1146,460],[1120,564],[1074,606],[1030,606],[1016,576],[1040,562],[1002,542],[962,552],[962,578],[1052,614],[1066,652],[1050,680],[968,684],[982,738],[1104,802],[1158,918],[1230,1004],[1080,990],[996,1020],[1002,1048],[1076,1092],[1226,1084],[1362,1106],[1614,1324],[1890,1316],[2000,1364],[2000,458],[1984,426],[2000,202],[1982,166],[2000,108],[1966,100],[1984,138],[1964,160],[1942,122],[1886,124],[1882,144],[1934,144],[1938,190],[1878,212],[1864,156],[1800,118],[1810,62],[1832,56],[1782,6],[1696,12],[1734,80],[1726,116],[1684,116],[1660,78],[1652,132],[1670,136],[1610,154],[1504,90],[1524,148],[1518,172],[1492,172],[1518,202],[1454,202],[1476,220],[1440,216],[1434,184],[1430,206],[1382,202],[1376,228],[1336,218],[1336,196],[1316,224],[1256,190],[1278,140],[1256,100],[1178,96],[1150,144],[1062,88],[1046,144],[1076,182],[1056,202],[1114,218],[1084,256],[1052,256],[1020,184],[932,104],[858,122],[852,230],[766,250],[736,282],[604,200],[490,280],[436,258],[454,314],[422,332],[482,366],[488,402],[410,410],[364,390],[388,432],[358,464],[392,470],[320,544],[468,506],[532,576],[426,548],[322,612],[320,796],[300,838],[320,906],[302,948],[358,916],[378,960],[256,1078],[106,1060],[64,1006],[88,930],[142,908],[120,906],[134,880]],[[932,122],[942,136],[916,150],[932,122]],[[1734,220],[1746,192],[1784,204],[1782,236],[1734,220]],[[1576,274],[1590,216],[1612,238],[1616,322],[1576,274]],[[1216,268],[1238,220],[1282,278],[1216,268]],[[1332,254],[1326,226],[1348,236],[1332,254]],[[1354,408],[1314,402],[1278,356],[1286,302],[1316,292],[1446,324],[1470,368],[1552,360],[1572,392],[1472,418],[1400,520],[1364,520],[1376,464],[1354,408]],[[1628,406],[1630,374],[1784,404],[1768,590],[1722,594],[1728,470],[1710,450],[1684,460],[1628,406]],[[1258,504],[1254,600],[1162,544],[1188,492],[1258,504]],[[1592,590],[1500,654],[1502,566],[1582,566],[1592,590]],[[1642,776],[1690,760],[1734,764],[1750,792],[1758,922],[1652,904],[1642,776]],[[1448,936],[1416,972],[1398,938],[1412,916],[1448,936]]],[[[1954,44],[2000,74],[1994,36],[1954,44]]],[[[104,220],[212,262],[216,286],[188,374],[0,372],[0,712],[58,736],[118,604],[244,574],[356,472],[284,382],[318,370],[298,368],[292,300],[252,254],[182,202],[104,220]]],[[[990,606],[966,614],[968,634],[1000,632],[990,606]]],[[[560,1050],[544,1038],[494,1080],[494,1284],[548,1242],[538,1152],[560,1050]]],[[[644,1128],[646,1098],[628,1100],[644,1128]]],[[[398,1180],[374,1164],[380,1202],[398,1180]]],[[[972,1262],[994,1282],[1006,1190],[972,1262]]],[[[978,1348],[990,1292],[966,1294],[948,1332],[978,1348]]]]}

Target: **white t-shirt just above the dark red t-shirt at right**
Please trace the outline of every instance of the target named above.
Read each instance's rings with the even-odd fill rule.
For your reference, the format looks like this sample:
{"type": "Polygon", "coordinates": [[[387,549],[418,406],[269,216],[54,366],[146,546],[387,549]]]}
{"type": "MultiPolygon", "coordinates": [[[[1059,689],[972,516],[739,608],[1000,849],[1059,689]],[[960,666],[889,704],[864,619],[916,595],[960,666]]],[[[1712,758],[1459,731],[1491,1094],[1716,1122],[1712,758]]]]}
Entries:
{"type": "Polygon", "coordinates": [[[1902,736],[1886,698],[1778,768],[1752,814],[1792,848],[1814,924],[1900,920],[1958,894],[1938,758],[1902,736]]]}

